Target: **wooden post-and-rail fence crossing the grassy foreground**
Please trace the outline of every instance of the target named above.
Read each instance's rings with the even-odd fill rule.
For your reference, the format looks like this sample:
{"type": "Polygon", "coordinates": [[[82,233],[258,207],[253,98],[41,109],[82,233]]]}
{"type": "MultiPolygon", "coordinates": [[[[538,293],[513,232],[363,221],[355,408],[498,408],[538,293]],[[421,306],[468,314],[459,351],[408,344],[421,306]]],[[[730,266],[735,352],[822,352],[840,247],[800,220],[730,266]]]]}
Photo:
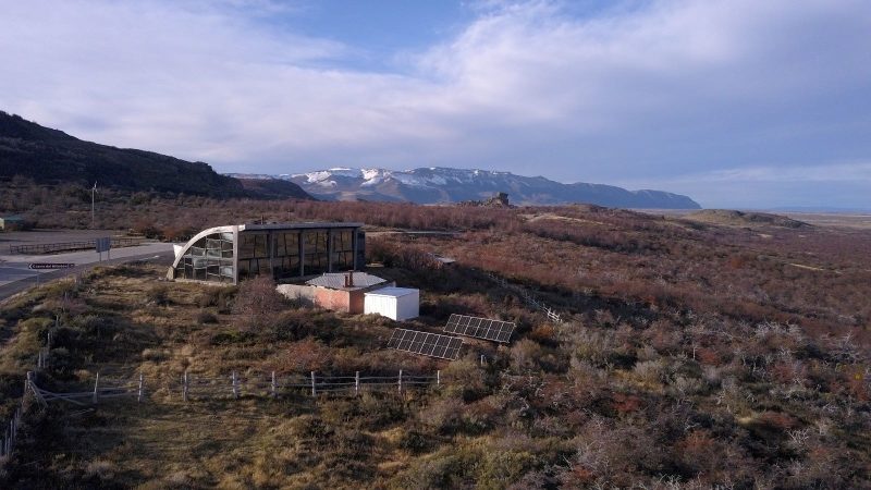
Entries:
{"type": "MultiPolygon", "coordinates": [[[[396,390],[404,391],[427,387],[441,387],[441,371],[436,375],[409,375],[400,369],[396,376],[323,376],[311,371],[308,376],[291,375],[278,377],[272,371],[269,376],[241,377],[233,371],[230,376],[207,378],[194,377],[185,372],[179,381],[169,384],[155,383],[165,387],[171,396],[177,396],[184,402],[191,400],[208,399],[238,399],[241,396],[279,397],[293,394],[310,394],[317,396],[321,393],[359,394],[361,391],[396,390]]],[[[148,391],[145,377],[137,379],[106,379],[97,373],[94,388],[77,392],[53,392],[39,387],[36,373],[27,373],[27,389],[40,404],[63,401],[75,405],[97,404],[111,399],[136,399],[137,402],[146,400],[148,391]]]]}

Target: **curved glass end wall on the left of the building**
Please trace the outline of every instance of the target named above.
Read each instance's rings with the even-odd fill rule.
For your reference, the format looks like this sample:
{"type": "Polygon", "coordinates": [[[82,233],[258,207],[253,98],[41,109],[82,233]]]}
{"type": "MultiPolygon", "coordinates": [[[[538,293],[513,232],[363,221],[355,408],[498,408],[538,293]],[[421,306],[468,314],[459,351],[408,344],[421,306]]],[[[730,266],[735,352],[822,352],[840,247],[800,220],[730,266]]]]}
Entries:
{"type": "Polygon", "coordinates": [[[175,277],[233,282],[233,233],[212,233],[198,240],[179,260],[175,277]]]}

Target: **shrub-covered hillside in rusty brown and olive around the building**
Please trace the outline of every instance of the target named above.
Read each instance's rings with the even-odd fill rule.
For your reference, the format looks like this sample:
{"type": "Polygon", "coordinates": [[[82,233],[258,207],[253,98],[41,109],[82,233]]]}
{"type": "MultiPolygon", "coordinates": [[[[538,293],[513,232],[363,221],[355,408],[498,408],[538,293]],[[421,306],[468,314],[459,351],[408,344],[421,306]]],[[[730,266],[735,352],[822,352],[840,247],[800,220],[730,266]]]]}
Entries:
{"type": "MultiPolygon", "coordinates": [[[[225,203],[200,206],[187,221],[234,222],[225,203]]],[[[594,206],[248,212],[455,233],[367,236],[368,261],[383,265],[369,272],[421,290],[409,322],[277,299],[268,281],[167,282],[165,264],[101,268],[0,304],[0,424],[49,331],[39,385],[86,402],[29,400],[0,488],[871,486],[867,230],[594,206]],[[452,362],[388,348],[394,328],[438,333],[451,314],[517,329],[507,345],[466,339],[452,362]],[[285,385],[311,371],[395,381],[400,369],[439,370],[441,384],[314,396],[285,385]],[[107,385],[143,375],[143,401],[91,404],[97,372],[107,385]]]]}

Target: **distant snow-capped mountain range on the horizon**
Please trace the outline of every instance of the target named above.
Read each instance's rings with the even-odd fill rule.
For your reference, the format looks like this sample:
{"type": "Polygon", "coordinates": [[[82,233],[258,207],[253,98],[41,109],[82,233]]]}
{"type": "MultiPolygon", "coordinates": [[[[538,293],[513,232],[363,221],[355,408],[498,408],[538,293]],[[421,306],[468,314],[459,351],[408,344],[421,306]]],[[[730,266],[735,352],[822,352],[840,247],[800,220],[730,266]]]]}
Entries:
{"type": "MultiPolygon", "coordinates": [[[[231,176],[246,177],[244,174],[231,176]]],[[[516,205],[589,203],[622,208],[700,208],[687,196],[662,191],[626,191],[613,185],[586,183],[562,184],[542,176],[528,177],[490,170],[335,168],[273,177],[292,181],[312,196],[327,200],[438,204],[486,199],[494,193],[504,192],[516,205]]]]}

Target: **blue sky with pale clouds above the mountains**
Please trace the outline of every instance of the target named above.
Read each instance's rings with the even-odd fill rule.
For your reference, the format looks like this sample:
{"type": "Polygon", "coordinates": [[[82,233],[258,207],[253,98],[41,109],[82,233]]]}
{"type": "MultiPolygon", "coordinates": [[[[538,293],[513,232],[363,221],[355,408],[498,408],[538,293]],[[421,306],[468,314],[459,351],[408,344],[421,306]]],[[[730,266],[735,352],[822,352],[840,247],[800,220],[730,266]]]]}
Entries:
{"type": "Polygon", "coordinates": [[[0,110],[219,172],[871,209],[868,0],[0,0],[0,110]]]}

